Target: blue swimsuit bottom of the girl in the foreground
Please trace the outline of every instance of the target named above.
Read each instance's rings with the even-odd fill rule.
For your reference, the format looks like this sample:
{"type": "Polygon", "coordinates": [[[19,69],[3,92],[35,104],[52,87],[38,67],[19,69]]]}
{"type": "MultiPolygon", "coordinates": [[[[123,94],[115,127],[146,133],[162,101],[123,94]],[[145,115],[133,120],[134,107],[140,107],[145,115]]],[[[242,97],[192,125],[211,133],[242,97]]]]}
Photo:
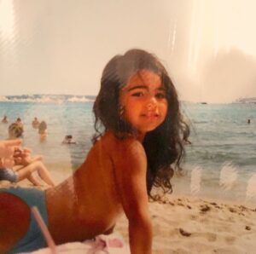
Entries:
{"type": "MultiPolygon", "coordinates": [[[[22,199],[30,208],[37,206],[40,215],[48,225],[48,215],[45,203],[45,193],[37,188],[0,188],[0,193],[12,193],[22,199]]],[[[1,212],[1,211],[0,211],[1,212]]],[[[38,227],[38,222],[30,212],[30,224],[26,234],[7,252],[8,254],[36,251],[46,247],[44,235],[38,227]]],[[[20,218],[22,220],[22,218],[20,218]]],[[[18,227],[18,225],[17,225],[18,227]]]]}

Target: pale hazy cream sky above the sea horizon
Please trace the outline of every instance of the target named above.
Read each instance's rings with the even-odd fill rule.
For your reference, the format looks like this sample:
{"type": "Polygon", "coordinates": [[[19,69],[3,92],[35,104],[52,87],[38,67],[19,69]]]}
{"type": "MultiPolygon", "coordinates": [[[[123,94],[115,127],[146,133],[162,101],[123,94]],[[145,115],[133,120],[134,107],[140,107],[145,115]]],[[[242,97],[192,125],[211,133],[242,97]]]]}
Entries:
{"type": "Polygon", "coordinates": [[[96,95],[132,48],[160,58],[181,100],[256,97],[254,0],[0,0],[0,95],[96,95]]]}

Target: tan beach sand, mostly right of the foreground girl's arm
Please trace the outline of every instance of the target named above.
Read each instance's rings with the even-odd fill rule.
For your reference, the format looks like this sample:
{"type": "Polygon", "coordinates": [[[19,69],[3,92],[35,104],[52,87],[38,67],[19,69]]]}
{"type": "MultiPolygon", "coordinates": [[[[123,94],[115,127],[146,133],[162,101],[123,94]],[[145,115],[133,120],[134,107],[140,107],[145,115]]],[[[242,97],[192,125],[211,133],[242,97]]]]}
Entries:
{"type": "MultiPolygon", "coordinates": [[[[0,187],[9,186],[9,182],[0,182],[0,187]]],[[[26,181],[19,186],[32,187],[26,181]]],[[[149,209],[154,254],[255,253],[256,205],[172,194],[160,201],[150,201],[149,209]]],[[[115,231],[128,244],[127,225],[123,216],[115,231]]]]}

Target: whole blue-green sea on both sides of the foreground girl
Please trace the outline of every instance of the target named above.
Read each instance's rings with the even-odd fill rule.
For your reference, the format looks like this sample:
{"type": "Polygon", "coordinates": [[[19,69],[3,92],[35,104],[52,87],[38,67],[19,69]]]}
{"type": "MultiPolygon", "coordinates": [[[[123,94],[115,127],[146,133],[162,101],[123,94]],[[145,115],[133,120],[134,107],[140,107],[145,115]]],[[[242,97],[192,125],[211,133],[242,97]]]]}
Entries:
{"type": "MultiPolygon", "coordinates": [[[[42,154],[44,163],[61,182],[84,162],[95,133],[93,101],[51,100],[0,102],[0,117],[9,124],[21,118],[23,144],[32,154],[42,154]],[[48,125],[45,141],[32,128],[37,117],[48,125]],[[75,145],[62,145],[72,135],[75,145]]],[[[190,124],[190,145],[185,146],[183,171],[172,179],[174,193],[232,199],[256,204],[256,105],[182,103],[190,124]],[[247,119],[251,124],[247,124],[247,119]]],[[[8,137],[9,124],[0,124],[0,139],[8,137]]]]}

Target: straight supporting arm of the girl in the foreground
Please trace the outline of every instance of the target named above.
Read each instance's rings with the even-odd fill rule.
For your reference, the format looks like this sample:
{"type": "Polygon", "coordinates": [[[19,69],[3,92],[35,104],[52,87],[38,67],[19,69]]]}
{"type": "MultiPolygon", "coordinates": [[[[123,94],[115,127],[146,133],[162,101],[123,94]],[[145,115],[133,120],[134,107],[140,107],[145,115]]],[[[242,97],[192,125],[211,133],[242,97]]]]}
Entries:
{"type": "Polygon", "coordinates": [[[119,141],[117,148],[113,161],[121,202],[129,220],[131,254],[149,254],[152,223],[148,212],[146,154],[136,140],[119,141]]]}

